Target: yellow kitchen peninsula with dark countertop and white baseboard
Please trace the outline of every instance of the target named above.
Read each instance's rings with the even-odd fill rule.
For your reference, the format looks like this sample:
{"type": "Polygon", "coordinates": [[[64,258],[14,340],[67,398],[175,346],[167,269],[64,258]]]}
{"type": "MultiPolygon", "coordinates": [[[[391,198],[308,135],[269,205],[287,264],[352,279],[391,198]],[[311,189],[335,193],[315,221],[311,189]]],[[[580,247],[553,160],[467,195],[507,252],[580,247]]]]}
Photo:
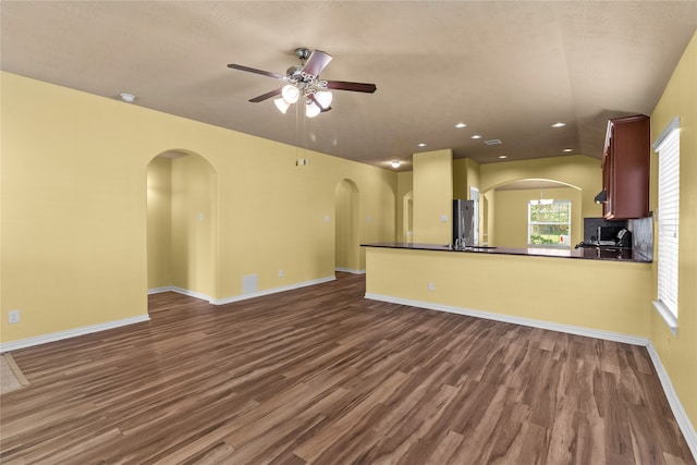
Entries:
{"type": "Polygon", "coordinates": [[[650,260],[586,249],[364,247],[366,298],[636,344],[649,334],[650,260]]]}

